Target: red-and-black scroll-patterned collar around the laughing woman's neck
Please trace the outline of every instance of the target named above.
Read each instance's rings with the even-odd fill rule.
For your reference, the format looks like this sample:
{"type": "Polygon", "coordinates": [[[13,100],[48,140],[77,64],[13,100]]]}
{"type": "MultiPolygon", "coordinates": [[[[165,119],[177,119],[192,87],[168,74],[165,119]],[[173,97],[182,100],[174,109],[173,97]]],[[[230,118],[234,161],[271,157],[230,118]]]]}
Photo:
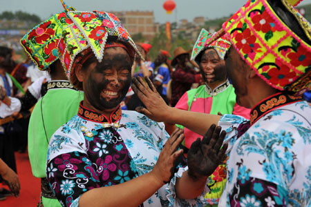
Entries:
{"type": "Polygon", "coordinates": [[[105,115],[85,108],[84,106],[82,106],[81,102],[78,110],[78,116],[89,121],[101,123],[102,126],[104,126],[105,128],[111,126],[119,128],[119,124],[117,124],[117,121],[120,121],[122,117],[122,110],[119,106],[114,112],[111,113],[111,116],[107,118],[105,115]]]}

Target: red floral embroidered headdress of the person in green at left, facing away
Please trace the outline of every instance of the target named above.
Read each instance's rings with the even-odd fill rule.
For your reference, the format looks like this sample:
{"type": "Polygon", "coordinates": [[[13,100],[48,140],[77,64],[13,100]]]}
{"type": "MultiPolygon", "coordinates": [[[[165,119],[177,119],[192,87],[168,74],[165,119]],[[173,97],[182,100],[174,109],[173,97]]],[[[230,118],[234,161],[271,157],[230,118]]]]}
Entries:
{"type": "Polygon", "coordinates": [[[62,30],[71,23],[66,12],[60,12],[32,28],[21,39],[21,46],[40,70],[46,70],[58,59],[57,46],[62,30]]]}

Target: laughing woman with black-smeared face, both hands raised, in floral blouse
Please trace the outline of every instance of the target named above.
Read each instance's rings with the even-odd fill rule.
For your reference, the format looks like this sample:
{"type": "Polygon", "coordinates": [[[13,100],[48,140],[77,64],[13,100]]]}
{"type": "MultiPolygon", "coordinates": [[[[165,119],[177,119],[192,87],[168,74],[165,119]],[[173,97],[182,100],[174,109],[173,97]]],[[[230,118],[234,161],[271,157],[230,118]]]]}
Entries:
{"type": "Polygon", "coordinates": [[[84,90],[84,101],[50,139],[46,175],[59,202],[202,205],[207,177],[227,148],[220,150],[225,132],[213,126],[191,146],[187,163],[180,161],[181,130],[169,137],[163,123],[120,108],[140,53],[117,17],[97,11],[67,14],[73,23],[59,40],[59,59],[73,86],[84,90]],[[185,168],[176,168],[178,163],[185,168]]]}

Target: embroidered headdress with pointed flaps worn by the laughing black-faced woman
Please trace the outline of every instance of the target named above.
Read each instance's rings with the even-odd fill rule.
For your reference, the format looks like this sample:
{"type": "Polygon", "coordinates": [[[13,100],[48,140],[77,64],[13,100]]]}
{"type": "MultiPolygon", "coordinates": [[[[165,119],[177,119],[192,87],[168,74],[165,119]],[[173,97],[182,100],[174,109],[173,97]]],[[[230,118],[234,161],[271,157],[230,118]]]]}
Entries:
{"type": "MultiPolygon", "coordinates": [[[[62,1],[62,0],[61,0],[62,1]]],[[[73,23],[64,27],[62,38],[59,41],[59,59],[67,72],[68,79],[75,83],[75,64],[81,61],[84,55],[95,55],[97,61],[101,62],[104,56],[104,48],[111,46],[122,46],[129,52],[131,58],[138,53],[142,55],[135,46],[133,39],[114,14],[108,12],[79,12],[68,8],[64,1],[63,6],[67,16],[73,23]],[[79,53],[81,53],[79,55],[79,53]],[[79,55],[79,58],[75,58],[79,55]]],[[[89,57],[89,56],[88,56],[89,57]]],[[[81,88],[79,88],[81,89],[81,88]]]]}

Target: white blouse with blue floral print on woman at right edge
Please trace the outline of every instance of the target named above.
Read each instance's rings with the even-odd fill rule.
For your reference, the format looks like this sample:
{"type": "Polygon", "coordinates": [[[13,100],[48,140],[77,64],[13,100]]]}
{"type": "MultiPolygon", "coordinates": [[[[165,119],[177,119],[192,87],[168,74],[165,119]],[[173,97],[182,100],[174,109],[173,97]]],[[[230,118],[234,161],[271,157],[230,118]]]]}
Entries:
{"type": "MultiPolygon", "coordinates": [[[[308,103],[299,101],[272,110],[236,140],[238,123],[241,123],[240,117],[227,115],[218,123],[225,126],[227,141],[234,140],[229,141],[229,145],[233,145],[220,206],[230,206],[229,198],[238,197],[233,193],[245,192],[248,188],[243,189],[243,184],[255,179],[258,186],[270,183],[276,186],[279,195],[285,195],[285,203],[277,197],[265,197],[259,206],[311,206],[311,107],[308,103]]],[[[257,205],[257,198],[251,193],[243,198],[239,201],[241,206],[252,202],[253,206],[257,205]]]]}

